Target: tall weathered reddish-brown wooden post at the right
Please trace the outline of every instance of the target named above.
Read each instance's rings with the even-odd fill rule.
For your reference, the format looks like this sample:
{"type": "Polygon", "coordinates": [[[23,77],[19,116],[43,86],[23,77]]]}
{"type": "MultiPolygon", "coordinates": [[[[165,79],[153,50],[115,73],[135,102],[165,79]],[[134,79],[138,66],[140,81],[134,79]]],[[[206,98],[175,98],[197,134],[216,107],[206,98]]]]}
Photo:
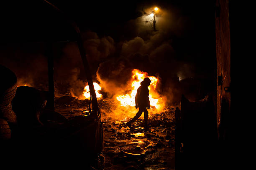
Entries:
{"type": "Polygon", "coordinates": [[[217,125],[220,140],[225,140],[230,118],[230,25],[228,0],[216,0],[217,125]]]}

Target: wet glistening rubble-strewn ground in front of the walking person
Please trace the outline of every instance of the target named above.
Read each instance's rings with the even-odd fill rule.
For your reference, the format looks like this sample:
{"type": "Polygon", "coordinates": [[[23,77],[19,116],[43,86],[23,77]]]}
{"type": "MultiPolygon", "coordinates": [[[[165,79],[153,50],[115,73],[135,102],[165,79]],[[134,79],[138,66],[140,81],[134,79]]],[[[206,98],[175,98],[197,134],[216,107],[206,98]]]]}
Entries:
{"type": "Polygon", "coordinates": [[[166,114],[148,118],[150,126],[144,132],[143,119],[128,128],[127,120],[106,120],[105,170],[172,170],[174,169],[174,123],[166,114]]]}

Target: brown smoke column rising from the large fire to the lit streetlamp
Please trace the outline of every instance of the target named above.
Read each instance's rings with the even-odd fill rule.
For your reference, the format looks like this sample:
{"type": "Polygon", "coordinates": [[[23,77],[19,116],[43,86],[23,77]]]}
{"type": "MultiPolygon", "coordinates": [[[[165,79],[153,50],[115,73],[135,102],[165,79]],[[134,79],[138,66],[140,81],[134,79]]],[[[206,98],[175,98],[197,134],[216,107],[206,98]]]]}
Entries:
{"type": "Polygon", "coordinates": [[[172,46],[172,35],[182,33],[187,18],[177,17],[162,8],[156,15],[157,31],[154,32],[150,31],[152,22],[145,22],[152,19],[148,16],[152,10],[153,6],[143,9],[143,16],[128,22],[133,25],[129,29],[133,32],[130,35],[137,36],[122,42],[120,56],[99,65],[97,77],[109,97],[127,93],[124,89],[128,89],[126,86],[131,79],[131,70],[137,68],[158,76],[160,95],[166,96],[168,103],[177,103],[181,94],[178,73],[182,78],[192,75],[190,64],[180,62],[172,46]]]}

